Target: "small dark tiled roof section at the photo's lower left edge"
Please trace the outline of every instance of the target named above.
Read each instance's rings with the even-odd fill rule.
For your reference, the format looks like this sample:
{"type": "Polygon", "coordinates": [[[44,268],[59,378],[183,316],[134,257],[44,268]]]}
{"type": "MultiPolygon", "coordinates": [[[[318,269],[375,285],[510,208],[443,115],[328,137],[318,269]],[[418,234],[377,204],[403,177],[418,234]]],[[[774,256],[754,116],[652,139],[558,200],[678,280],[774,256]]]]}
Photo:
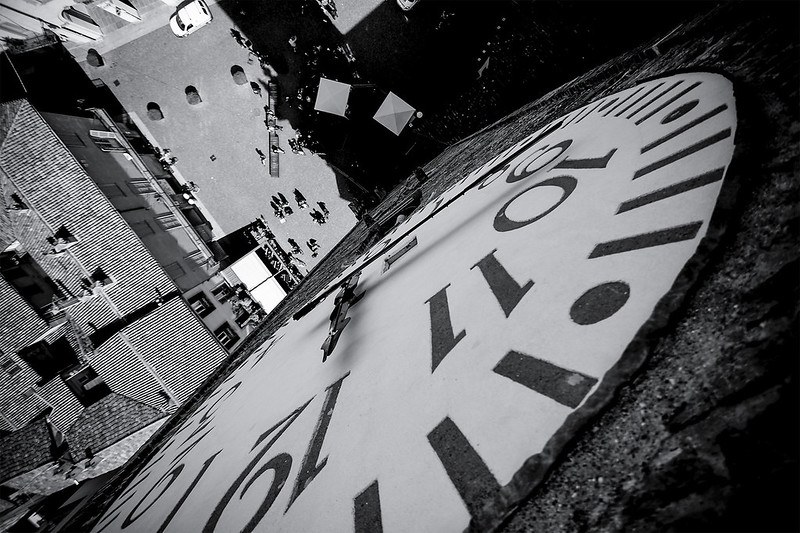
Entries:
{"type": "Polygon", "coordinates": [[[44,417],[37,418],[25,427],[0,437],[0,482],[52,459],[47,420],[44,417]]]}

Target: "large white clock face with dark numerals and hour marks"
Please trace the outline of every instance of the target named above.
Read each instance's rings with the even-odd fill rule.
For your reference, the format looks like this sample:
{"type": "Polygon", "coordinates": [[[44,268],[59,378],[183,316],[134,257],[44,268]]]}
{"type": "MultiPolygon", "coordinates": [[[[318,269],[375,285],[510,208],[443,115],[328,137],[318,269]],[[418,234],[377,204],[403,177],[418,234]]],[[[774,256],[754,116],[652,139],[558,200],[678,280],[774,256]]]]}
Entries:
{"type": "Polygon", "coordinates": [[[463,530],[607,399],[709,228],[735,128],[731,83],[681,74],[497,154],[345,273],[365,292],[325,363],[337,291],[233,372],[93,531],[463,530]]]}

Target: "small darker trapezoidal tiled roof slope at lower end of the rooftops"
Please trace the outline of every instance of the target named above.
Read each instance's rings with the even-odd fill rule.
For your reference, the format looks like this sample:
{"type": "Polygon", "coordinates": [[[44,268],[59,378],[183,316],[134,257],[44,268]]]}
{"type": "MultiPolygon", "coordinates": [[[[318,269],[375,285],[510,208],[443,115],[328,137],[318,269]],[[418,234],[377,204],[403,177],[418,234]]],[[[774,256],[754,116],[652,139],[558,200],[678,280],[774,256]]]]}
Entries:
{"type": "Polygon", "coordinates": [[[96,453],[165,416],[154,407],[112,392],[83,410],[67,430],[67,442],[72,455],[80,460],[86,457],[87,447],[96,453]]]}

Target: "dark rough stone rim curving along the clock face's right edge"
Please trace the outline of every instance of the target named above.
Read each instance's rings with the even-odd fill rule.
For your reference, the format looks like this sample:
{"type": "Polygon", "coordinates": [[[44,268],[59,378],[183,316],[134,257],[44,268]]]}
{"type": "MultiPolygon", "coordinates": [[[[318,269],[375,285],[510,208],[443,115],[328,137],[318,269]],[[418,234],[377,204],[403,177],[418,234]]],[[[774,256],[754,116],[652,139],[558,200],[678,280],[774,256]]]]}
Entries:
{"type": "MultiPolygon", "coordinates": [[[[737,127],[734,136],[734,152],[719,192],[717,204],[709,219],[706,235],[700,241],[697,251],[681,269],[670,290],[656,304],[653,314],[639,328],[619,361],[603,377],[597,391],[586,400],[583,406],[567,417],[564,424],[547,441],[544,449],[529,457],[517,470],[511,481],[502,487],[491,501],[483,505],[481,511],[470,521],[465,530],[467,532],[497,531],[526,500],[534,495],[535,491],[547,480],[552,468],[563,458],[563,452],[574,443],[590,421],[611,406],[622,385],[630,381],[642,369],[655,344],[673,324],[675,316],[682,309],[689,293],[696,288],[701,274],[710,266],[716,252],[721,250],[720,244],[729,236],[728,228],[732,225],[733,215],[742,201],[739,195],[742,176],[746,175],[749,167],[743,152],[747,151],[745,143],[753,140],[748,119],[752,118],[750,115],[754,106],[751,105],[751,98],[748,98],[743,90],[743,83],[719,67],[705,69],[702,66],[693,66],[671,69],[657,76],[637,79],[635,85],[653,79],[688,73],[724,76],[733,84],[733,97],[736,105],[737,127]],[[745,97],[740,98],[743,94],[745,97]]],[[[595,99],[601,97],[602,95],[595,99]]],[[[576,106],[575,109],[580,107],[583,106],[576,106]]]]}

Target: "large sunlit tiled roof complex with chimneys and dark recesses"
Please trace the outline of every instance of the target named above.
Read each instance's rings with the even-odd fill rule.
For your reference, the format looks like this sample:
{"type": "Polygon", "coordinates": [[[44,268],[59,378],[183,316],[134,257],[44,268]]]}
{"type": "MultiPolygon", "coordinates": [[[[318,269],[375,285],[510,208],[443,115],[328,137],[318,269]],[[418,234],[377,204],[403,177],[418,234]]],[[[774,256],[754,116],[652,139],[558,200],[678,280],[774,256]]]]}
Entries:
{"type": "Polygon", "coordinates": [[[225,359],[27,100],[0,104],[0,199],[0,430],[52,409],[81,446],[105,446],[171,411],[225,359]]]}

